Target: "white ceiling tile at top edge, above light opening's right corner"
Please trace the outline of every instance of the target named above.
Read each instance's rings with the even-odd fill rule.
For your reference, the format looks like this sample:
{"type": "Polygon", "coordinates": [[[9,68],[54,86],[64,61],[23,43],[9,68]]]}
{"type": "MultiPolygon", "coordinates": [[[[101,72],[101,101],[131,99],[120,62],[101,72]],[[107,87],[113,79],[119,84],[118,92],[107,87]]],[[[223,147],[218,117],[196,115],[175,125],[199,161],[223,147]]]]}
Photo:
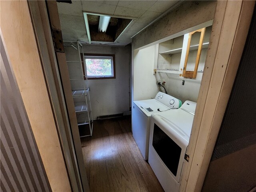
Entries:
{"type": "Polygon", "coordinates": [[[126,8],[132,8],[132,9],[141,9],[141,10],[148,10],[156,1],[142,1],[142,0],[131,0],[131,1],[119,1],[118,6],[120,7],[126,7],[126,8]]]}

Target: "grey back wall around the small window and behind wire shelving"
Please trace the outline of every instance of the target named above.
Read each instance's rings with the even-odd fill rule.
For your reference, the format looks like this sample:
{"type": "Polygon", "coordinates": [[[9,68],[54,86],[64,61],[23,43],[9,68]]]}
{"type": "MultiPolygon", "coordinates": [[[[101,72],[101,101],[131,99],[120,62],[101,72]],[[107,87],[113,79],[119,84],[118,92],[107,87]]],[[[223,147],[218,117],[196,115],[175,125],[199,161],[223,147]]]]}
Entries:
{"type": "MultiPolygon", "coordinates": [[[[65,47],[67,60],[78,60],[78,51],[65,47]]],[[[93,119],[97,116],[119,114],[130,110],[130,62],[131,46],[84,45],[85,53],[114,54],[116,78],[88,80],[93,119]]],[[[68,63],[70,76],[80,75],[82,70],[77,65],[68,63]]],[[[72,89],[83,88],[83,81],[72,80],[72,89]]]]}

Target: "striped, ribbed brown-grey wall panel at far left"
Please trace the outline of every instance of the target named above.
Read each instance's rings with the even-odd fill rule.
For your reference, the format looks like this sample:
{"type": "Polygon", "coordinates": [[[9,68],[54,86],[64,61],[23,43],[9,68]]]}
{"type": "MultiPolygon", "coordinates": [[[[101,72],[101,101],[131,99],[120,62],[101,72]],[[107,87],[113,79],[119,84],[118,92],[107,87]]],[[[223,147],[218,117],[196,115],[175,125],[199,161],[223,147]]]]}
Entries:
{"type": "Polygon", "coordinates": [[[51,191],[1,38],[1,191],[51,191]]]}

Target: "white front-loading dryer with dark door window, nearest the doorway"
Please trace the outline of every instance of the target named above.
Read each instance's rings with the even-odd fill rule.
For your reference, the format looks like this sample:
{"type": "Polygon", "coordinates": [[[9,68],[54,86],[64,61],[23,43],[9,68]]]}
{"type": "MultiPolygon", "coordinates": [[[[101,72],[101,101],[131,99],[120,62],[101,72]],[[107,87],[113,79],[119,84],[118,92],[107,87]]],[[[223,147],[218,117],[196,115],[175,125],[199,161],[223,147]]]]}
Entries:
{"type": "Polygon", "coordinates": [[[196,103],[186,101],[177,110],[153,114],[148,163],[165,192],[179,191],[196,103]]]}

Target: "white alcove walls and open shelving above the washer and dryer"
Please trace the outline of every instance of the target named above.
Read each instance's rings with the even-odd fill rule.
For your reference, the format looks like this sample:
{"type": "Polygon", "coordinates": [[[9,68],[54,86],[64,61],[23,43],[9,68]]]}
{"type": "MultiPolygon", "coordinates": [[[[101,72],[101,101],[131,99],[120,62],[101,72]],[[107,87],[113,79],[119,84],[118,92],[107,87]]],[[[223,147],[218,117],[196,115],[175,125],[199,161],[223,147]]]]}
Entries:
{"type": "MultiPolygon", "coordinates": [[[[148,48],[134,50],[134,100],[144,100],[154,98],[156,93],[161,90],[165,92],[162,86],[158,85],[164,82],[164,87],[168,94],[179,98],[182,102],[186,100],[197,101],[198,92],[204,71],[206,52],[210,40],[211,24],[205,25],[206,32],[203,38],[203,47],[201,50],[197,76],[196,78],[184,78],[182,75],[184,62],[186,58],[186,49],[188,44],[188,33],[176,38],[169,37],[170,40],[152,45],[148,48]],[[210,26],[209,26],[210,25],[210,26]],[[186,39],[184,39],[186,36],[186,39]],[[143,71],[143,76],[141,75],[143,71]],[[184,82],[182,82],[184,80],[184,82]]],[[[191,31],[192,32],[192,29],[191,31]]],[[[194,71],[200,33],[193,36],[191,47],[188,54],[188,70],[194,71]]],[[[175,35],[176,36],[176,35],[175,35]]]]}

